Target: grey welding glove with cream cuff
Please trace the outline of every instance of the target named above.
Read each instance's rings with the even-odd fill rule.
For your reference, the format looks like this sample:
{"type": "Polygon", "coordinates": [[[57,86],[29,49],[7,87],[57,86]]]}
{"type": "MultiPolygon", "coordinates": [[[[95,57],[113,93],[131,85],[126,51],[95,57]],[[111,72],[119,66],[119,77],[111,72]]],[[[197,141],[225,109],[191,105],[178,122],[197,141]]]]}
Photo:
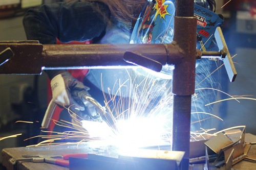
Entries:
{"type": "Polygon", "coordinates": [[[90,90],[78,81],[68,71],[61,72],[51,80],[52,100],[60,106],[72,105],[72,110],[83,111],[84,106],[79,105],[71,95],[72,90],[90,90]]]}

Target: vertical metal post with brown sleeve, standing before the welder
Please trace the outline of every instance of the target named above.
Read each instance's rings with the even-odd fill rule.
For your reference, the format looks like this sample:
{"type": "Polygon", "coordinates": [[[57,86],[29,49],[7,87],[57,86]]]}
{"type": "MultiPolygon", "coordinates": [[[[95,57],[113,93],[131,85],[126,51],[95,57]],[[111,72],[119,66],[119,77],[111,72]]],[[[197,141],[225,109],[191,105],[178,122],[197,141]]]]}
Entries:
{"type": "Polygon", "coordinates": [[[173,74],[173,151],[185,151],[182,169],[188,169],[190,144],[191,95],[195,92],[196,32],[193,0],[176,0],[174,41],[184,58],[173,74]]]}

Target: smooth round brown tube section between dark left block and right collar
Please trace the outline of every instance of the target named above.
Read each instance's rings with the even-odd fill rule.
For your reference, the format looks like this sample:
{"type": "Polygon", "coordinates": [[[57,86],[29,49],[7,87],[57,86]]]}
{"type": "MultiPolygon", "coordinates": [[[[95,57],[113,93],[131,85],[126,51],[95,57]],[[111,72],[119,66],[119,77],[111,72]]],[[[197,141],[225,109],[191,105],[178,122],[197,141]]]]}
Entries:
{"type": "Polygon", "coordinates": [[[44,45],[43,51],[45,69],[132,66],[123,59],[127,51],[137,52],[162,65],[166,64],[167,59],[163,44],[44,45]]]}

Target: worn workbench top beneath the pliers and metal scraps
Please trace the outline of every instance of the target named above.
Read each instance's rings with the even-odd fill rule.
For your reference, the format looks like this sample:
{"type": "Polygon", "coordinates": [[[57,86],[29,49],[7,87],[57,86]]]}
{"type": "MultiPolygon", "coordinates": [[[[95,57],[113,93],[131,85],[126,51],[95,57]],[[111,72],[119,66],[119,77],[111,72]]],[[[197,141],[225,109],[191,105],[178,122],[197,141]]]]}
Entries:
{"type": "MultiPolygon", "coordinates": [[[[68,145],[45,145],[38,147],[20,147],[20,148],[7,148],[2,151],[3,165],[7,170],[45,170],[45,169],[57,169],[57,170],[67,170],[68,167],[62,167],[59,165],[49,164],[49,163],[32,163],[32,162],[16,162],[16,159],[23,158],[22,155],[57,155],[57,154],[67,154],[67,153],[97,153],[99,155],[117,157],[113,151],[108,148],[108,153],[106,148],[91,148],[87,144],[68,144],[68,145]],[[113,154],[114,153],[114,154],[113,154]],[[112,154],[112,155],[110,155],[112,154]],[[16,162],[16,163],[15,163],[16,162]]],[[[256,160],[256,144],[252,144],[248,156],[256,160]]],[[[242,160],[241,162],[232,166],[235,170],[252,170],[256,168],[256,163],[247,160],[242,160]]],[[[189,169],[193,169],[190,167],[189,169]]],[[[212,168],[210,168],[212,169],[212,168]]],[[[219,169],[219,168],[214,168],[219,169]]],[[[222,168],[221,168],[222,169],[222,168]]]]}

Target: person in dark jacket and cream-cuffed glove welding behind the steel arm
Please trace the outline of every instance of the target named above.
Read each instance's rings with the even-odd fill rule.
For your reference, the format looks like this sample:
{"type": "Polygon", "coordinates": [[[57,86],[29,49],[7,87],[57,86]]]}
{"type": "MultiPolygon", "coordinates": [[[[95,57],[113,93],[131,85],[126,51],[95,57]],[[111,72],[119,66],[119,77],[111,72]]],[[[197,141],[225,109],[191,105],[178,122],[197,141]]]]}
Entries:
{"type": "MultiPolygon", "coordinates": [[[[145,3],[146,0],[74,0],[42,5],[26,12],[24,29],[28,40],[39,40],[42,44],[129,43],[145,3]]],[[[215,0],[195,0],[195,3],[210,10],[215,8],[215,0]]],[[[74,110],[84,111],[86,108],[77,104],[71,93],[73,90],[86,90],[88,95],[104,105],[99,87],[102,71],[110,71],[105,82],[113,84],[112,80],[122,75],[123,70],[45,70],[50,78],[53,101],[61,108],[72,105],[74,110]]],[[[63,109],[60,115],[67,118],[61,119],[70,119],[65,112],[67,109],[63,109]]]]}

